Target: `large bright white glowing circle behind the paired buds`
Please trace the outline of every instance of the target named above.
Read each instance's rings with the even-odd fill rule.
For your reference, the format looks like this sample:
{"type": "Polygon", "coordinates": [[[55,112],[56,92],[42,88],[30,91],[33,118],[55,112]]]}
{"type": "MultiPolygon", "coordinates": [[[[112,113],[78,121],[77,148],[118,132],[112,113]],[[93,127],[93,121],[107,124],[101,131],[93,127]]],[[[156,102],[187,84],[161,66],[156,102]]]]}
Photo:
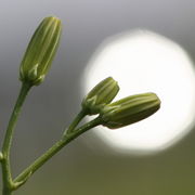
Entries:
{"type": "Polygon", "coordinates": [[[161,108],[126,128],[96,128],[94,132],[106,144],[150,153],[172,145],[191,130],[195,118],[195,72],[177,43],[148,31],[116,36],[100,48],[86,67],[84,94],[108,76],[120,86],[116,100],[155,92],[161,100],[161,108]]]}

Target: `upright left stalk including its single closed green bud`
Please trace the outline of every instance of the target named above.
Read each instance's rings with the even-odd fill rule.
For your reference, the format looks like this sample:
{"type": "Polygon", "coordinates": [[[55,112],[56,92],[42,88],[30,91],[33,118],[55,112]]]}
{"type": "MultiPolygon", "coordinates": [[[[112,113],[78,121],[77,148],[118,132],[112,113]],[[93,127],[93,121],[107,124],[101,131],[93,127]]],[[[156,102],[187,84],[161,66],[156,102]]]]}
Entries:
{"type": "Polygon", "coordinates": [[[35,31],[20,68],[22,89],[11,115],[3,140],[0,162],[2,166],[3,195],[10,195],[21,183],[14,183],[11,172],[10,152],[14,128],[23,103],[32,86],[40,84],[48,73],[60,43],[61,21],[46,17],[35,31]]]}

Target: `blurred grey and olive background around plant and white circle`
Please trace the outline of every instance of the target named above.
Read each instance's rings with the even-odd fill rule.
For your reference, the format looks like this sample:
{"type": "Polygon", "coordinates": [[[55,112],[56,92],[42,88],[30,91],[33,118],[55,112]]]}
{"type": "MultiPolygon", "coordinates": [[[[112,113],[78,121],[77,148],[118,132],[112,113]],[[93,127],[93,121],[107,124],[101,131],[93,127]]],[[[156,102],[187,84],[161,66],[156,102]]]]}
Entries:
{"type": "MultiPolygon", "coordinates": [[[[104,40],[143,28],[179,43],[194,61],[194,11],[193,0],[1,0],[1,143],[21,87],[20,63],[34,30],[48,15],[58,16],[64,25],[51,72],[40,87],[30,91],[15,130],[14,176],[60,139],[63,128],[80,109],[81,94],[84,93],[80,84],[83,72],[104,40]]],[[[180,105],[176,109],[182,112],[180,105]]],[[[90,131],[75,140],[15,194],[195,194],[195,131],[192,123],[183,139],[154,154],[120,154],[107,148],[90,131]],[[99,148],[100,145],[103,147],[99,148]]]]}

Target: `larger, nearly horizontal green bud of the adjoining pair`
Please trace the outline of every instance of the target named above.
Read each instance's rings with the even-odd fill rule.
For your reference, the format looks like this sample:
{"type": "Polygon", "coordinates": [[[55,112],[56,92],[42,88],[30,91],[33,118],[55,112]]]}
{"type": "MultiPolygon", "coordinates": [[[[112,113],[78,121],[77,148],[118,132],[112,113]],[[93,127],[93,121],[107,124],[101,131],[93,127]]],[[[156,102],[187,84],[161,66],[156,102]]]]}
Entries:
{"type": "Polygon", "coordinates": [[[100,117],[103,126],[117,129],[150,117],[159,107],[160,100],[155,93],[143,93],[106,105],[102,109],[100,117]]]}

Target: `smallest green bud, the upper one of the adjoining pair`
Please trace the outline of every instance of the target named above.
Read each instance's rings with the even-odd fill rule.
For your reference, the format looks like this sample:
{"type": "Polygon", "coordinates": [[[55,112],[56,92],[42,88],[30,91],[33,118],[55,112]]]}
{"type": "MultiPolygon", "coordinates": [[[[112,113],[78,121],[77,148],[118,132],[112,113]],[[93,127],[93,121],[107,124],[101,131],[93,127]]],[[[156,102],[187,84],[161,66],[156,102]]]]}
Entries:
{"type": "Polygon", "coordinates": [[[100,110],[113,101],[119,91],[117,81],[108,77],[98,83],[83,99],[82,108],[89,115],[99,114],[100,110]]]}

